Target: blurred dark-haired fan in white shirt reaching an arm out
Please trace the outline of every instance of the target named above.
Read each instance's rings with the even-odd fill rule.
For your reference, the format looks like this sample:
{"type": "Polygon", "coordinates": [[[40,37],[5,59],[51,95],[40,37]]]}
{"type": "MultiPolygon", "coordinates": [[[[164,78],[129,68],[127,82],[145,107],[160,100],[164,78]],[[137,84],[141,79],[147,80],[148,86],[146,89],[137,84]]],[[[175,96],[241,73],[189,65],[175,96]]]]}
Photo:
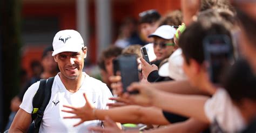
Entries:
{"type": "Polygon", "coordinates": [[[211,82],[207,72],[203,39],[206,35],[214,34],[230,36],[230,32],[218,22],[198,21],[188,26],[179,39],[184,58],[183,70],[190,84],[212,95],[212,98],[166,93],[144,84],[132,84],[128,90],[138,90],[140,93],[127,98],[139,105],[160,107],[211,124],[212,131],[237,132],[243,129],[245,122],[239,109],[223,88],[211,82]]]}

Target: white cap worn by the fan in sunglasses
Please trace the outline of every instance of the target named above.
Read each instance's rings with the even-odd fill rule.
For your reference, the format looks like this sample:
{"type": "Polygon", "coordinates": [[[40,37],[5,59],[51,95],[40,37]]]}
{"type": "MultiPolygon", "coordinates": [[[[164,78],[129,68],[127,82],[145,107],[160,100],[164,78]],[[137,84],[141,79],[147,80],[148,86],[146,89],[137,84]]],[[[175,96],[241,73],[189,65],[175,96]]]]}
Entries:
{"type": "Polygon", "coordinates": [[[156,31],[150,34],[148,37],[158,36],[163,39],[173,39],[174,34],[176,33],[176,29],[170,25],[162,25],[156,29],[156,31]]]}

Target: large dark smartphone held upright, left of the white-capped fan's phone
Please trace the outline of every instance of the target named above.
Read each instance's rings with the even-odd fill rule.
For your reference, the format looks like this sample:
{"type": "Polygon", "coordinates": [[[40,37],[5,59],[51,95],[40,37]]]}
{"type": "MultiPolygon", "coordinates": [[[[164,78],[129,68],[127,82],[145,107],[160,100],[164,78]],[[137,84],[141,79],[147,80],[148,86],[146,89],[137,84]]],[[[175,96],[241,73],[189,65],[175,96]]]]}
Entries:
{"type": "MultiPolygon", "coordinates": [[[[123,92],[127,92],[127,87],[133,82],[139,82],[138,63],[135,55],[121,55],[118,57],[119,69],[122,77],[123,92]]],[[[137,94],[138,91],[129,92],[137,94]]]]}

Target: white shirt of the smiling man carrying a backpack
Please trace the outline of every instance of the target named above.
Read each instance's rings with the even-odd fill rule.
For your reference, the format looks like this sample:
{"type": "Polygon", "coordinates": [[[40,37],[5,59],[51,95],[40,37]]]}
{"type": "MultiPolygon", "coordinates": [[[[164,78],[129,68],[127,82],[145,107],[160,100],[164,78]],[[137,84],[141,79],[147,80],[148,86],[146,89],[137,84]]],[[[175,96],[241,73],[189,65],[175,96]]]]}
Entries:
{"type": "MultiPolygon", "coordinates": [[[[112,102],[109,98],[113,96],[106,84],[100,82],[100,80],[90,77],[85,72],[83,72],[83,75],[85,76],[84,82],[75,93],[71,93],[66,90],[60,80],[60,77],[58,75],[55,76],[52,85],[51,99],[48,106],[45,108],[39,132],[86,132],[88,127],[100,125],[101,121],[93,120],[86,121],[77,127],[73,127],[73,125],[78,123],[80,119],[63,119],[64,116],[72,116],[70,113],[61,111],[64,109],[63,105],[74,107],[82,107],[85,105],[83,93],[86,93],[91,104],[99,109],[106,109],[106,104],[112,102]]],[[[33,95],[35,95],[38,87],[39,82],[28,88],[20,106],[30,114],[33,109],[33,95]]]]}

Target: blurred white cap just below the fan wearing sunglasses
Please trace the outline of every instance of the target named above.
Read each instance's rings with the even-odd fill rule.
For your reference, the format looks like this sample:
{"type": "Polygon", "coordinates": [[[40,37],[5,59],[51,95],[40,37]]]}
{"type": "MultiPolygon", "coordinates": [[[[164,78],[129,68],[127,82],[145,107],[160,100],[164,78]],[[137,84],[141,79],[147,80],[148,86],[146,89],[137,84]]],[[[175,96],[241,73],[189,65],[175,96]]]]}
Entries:
{"type": "Polygon", "coordinates": [[[183,71],[183,57],[182,50],[178,48],[174,53],[169,57],[168,62],[163,64],[158,71],[159,76],[161,77],[170,77],[174,80],[184,80],[186,75],[183,71]]]}

